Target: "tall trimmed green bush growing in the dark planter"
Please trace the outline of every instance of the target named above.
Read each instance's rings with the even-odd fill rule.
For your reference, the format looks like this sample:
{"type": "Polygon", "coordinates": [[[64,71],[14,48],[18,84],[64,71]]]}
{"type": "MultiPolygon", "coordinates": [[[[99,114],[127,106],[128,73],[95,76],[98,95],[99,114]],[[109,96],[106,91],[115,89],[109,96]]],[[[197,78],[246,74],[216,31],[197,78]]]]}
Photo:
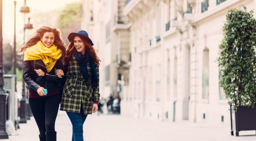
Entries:
{"type": "Polygon", "coordinates": [[[228,104],[252,106],[256,102],[256,20],[253,11],[232,9],[226,15],[220,44],[220,86],[228,104]]]}

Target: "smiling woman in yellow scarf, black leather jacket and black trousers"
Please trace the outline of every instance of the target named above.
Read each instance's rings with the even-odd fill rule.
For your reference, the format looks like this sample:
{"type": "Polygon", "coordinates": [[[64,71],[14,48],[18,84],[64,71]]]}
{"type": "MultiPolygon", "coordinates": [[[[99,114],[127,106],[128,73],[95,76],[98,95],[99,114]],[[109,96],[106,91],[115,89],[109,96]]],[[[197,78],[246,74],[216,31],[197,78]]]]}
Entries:
{"type": "Polygon", "coordinates": [[[56,141],[55,121],[61,99],[58,84],[63,78],[55,75],[54,70],[66,55],[60,31],[47,26],[37,29],[20,52],[24,52],[23,79],[40,132],[39,139],[56,141]]]}

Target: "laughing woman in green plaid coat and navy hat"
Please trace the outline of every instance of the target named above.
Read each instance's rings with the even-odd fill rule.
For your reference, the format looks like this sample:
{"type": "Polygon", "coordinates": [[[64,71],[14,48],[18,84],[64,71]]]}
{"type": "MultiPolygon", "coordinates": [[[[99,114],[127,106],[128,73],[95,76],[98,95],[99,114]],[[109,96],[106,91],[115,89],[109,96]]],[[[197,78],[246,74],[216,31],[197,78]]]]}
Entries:
{"type": "Polygon", "coordinates": [[[70,44],[64,58],[64,72],[55,71],[59,77],[66,74],[60,110],[66,111],[72,123],[72,141],[84,141],[84,121],[88,114],[98,110],[100,100],[100,59],[86,31],[70,33],[68,40],[70,44]]]}

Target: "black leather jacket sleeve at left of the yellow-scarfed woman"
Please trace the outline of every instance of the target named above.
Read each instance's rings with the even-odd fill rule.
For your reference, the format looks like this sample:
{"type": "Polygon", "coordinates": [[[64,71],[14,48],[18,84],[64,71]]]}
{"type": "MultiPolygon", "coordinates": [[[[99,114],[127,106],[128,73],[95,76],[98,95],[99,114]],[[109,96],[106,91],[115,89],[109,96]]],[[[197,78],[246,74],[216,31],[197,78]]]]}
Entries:
{"type": "Polygon", "coordinates": [[[29,85],[31,88],[37,91],[37,89],[40,87],[38,83],[36,83],[32,78],[32,72],[31,72],[31,63],[30,61],[23,61],[23,71],[22,71],[22,77],[27,85],[29,85]]]}

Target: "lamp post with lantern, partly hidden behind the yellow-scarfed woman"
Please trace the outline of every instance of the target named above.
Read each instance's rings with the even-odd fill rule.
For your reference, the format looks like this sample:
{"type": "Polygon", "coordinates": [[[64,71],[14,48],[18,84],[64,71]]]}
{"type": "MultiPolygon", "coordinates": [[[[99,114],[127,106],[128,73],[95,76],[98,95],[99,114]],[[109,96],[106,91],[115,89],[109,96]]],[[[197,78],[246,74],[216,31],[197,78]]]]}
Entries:
{"type": "MultiPolygon", "coordinates": [[[[26,5],[26,0],[24,0],[24,6],[20,8],[20,12],[24,13],[24,25],[26,21],[26,13],[29,13],[29,7],[26,5]]],[[[24,26],[24,44],[25,44],[25,26],[24,26]]],[[[23,66],[23,63],[22,63],[23,66]]],[[[20,100],[20,123],[27,123],[27,104],[28,104],[28,98],[25,94],[25,81],[22,80],[22,98],[20,100]]]]}

